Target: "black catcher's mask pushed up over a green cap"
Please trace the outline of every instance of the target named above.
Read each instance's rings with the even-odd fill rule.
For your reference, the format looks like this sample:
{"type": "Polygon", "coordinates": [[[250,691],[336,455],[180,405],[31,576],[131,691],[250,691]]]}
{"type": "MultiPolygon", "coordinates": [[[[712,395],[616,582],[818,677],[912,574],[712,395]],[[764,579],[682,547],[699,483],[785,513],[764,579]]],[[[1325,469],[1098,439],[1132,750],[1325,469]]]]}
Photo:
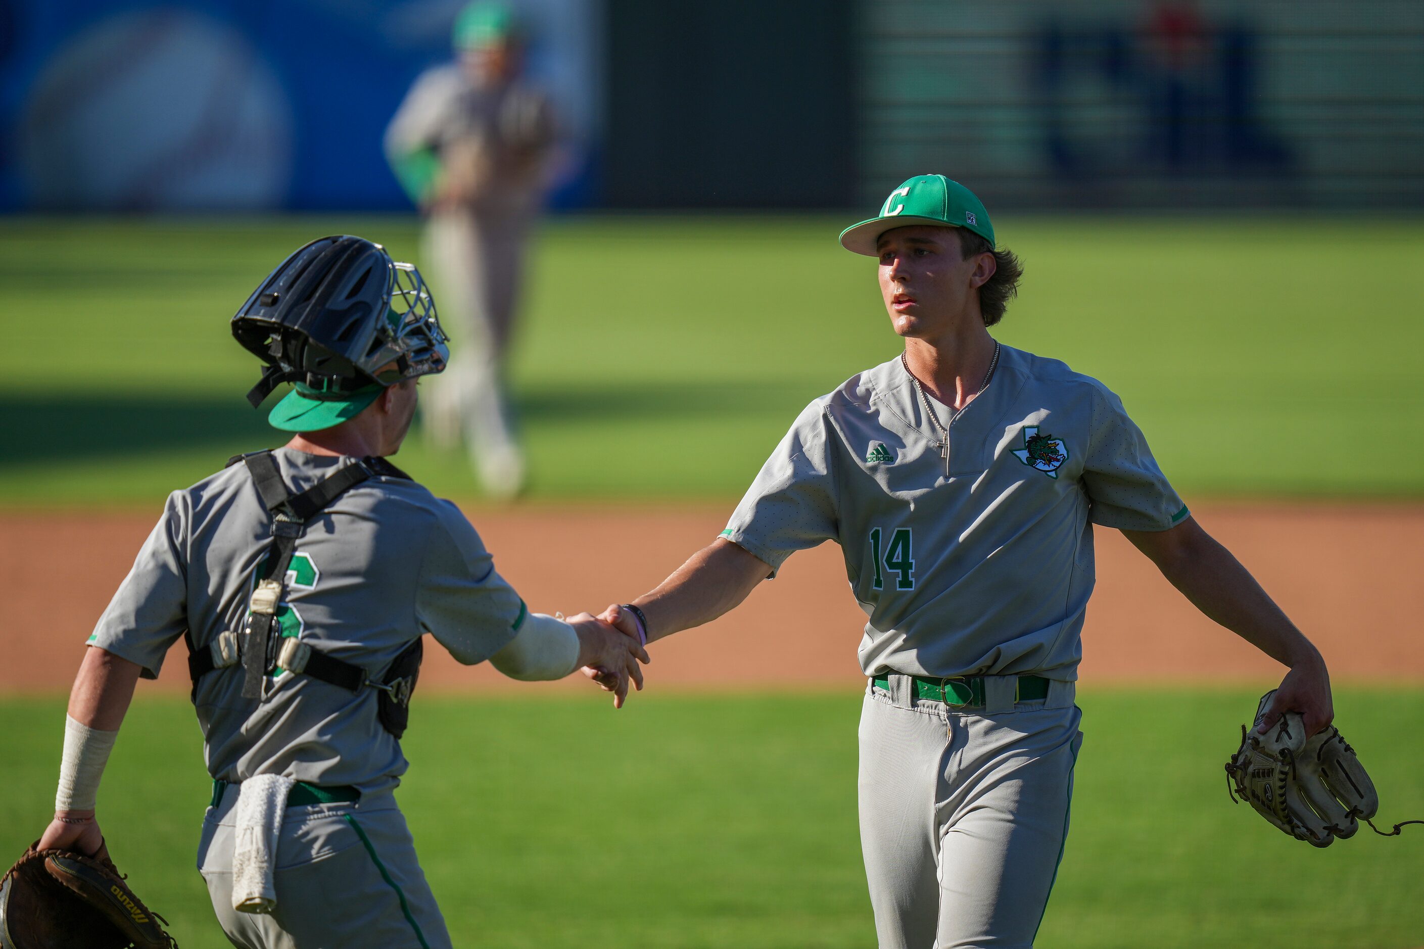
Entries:
{"type": "Polygon", "coordinates": [[[359,415],[387,386],[450,359],[426,282],[379,244],[325,237],[282,261],[232,318],[232,335],[266,368],[253,408],[295,383],[268,422],[316,432],[359,415]]]}

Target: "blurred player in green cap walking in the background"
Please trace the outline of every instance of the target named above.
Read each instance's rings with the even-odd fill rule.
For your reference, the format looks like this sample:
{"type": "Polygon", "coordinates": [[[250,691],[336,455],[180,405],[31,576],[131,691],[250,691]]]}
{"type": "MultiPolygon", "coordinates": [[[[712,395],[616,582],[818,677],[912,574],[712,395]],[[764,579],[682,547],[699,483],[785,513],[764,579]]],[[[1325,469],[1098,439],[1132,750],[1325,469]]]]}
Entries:
{"type": "Polygon", "coordinates": [[[506,499],[525,467],[501,365],[555,138],[548,98],[521,78],[524,41],[510,9],[470,4],[454,24],[457,61],[416,80],[386,130],[386,157],[427,215],[423,256],[451,326],[426,427],[443,446],[463,430],[484,490],[506,499]]]}

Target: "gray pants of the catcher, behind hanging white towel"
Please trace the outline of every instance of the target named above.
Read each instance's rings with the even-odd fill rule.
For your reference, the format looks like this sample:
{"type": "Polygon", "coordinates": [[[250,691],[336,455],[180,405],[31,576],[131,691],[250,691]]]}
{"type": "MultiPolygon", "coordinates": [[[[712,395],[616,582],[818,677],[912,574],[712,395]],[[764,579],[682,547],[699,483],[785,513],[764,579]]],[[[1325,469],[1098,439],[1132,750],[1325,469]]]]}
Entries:
{"type": "Polygon", "coordinates": [[[241,949],[450,949],[450,933],[390,792],[289,807],[278,841],[276,912],[232,908],[238,788],[208,808],[198,869],[241,949]]]}

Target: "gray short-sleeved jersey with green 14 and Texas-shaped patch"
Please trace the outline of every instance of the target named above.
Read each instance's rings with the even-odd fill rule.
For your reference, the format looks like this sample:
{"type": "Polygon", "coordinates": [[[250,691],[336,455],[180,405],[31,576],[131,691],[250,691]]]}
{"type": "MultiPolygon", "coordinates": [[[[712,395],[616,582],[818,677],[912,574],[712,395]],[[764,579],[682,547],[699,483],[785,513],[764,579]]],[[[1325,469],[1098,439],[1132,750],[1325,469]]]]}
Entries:
{"type": "Polygon", "coordinates": [[[1166,530],[1186,506],[1101,382],[1002,346],[954,415],[900,359],[812,402],[722,536],[776,567],[840,543],[869,617],[866,675],[1075,680],[1092,526],[1166,530]]]}

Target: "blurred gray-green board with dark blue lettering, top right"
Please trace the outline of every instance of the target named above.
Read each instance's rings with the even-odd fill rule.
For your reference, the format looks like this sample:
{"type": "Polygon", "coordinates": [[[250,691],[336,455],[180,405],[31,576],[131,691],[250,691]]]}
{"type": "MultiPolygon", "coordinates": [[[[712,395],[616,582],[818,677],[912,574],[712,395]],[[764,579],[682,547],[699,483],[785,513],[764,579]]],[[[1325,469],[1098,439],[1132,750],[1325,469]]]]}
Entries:
{"type": "Polygon", "coordinates": [[[1418,0],[866,0],[859,195],[991,207],[1424,207],[1418,0]]]}

